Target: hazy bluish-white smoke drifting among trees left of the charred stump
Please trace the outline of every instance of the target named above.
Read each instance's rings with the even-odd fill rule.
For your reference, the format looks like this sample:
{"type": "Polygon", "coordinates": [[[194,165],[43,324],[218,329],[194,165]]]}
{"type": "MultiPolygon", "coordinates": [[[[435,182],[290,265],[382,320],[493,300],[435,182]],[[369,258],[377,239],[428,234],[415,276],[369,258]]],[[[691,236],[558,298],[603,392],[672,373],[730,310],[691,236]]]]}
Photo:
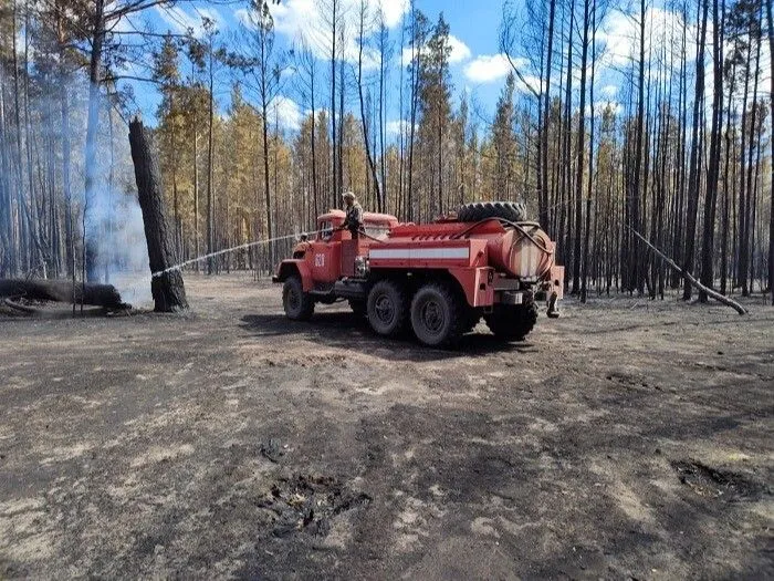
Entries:
{"type": "MultiPolygon", "coordinates": [[[[34,90],[6,101],[6,120],[24,123],[7,122],[0,131],[0,273],[69,279],[73,258],[80,279],[87,241],[94,281],[145,305],[150,269],[128,127],[118,111],[124,95],[108,96],[101,87],[96,156],[88,166],[94,179],[85,196],[88,80],[56,66],[25,74],[34,90]]],[[[0,85],[4,79],[0,65],[0,85]]]]}

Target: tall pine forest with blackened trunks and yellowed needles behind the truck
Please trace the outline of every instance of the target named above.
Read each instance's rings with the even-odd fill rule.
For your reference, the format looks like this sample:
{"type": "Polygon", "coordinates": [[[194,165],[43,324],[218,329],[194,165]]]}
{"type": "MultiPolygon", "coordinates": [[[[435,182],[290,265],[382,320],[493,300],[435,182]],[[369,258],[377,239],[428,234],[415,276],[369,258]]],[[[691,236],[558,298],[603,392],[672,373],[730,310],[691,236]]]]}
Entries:
{"type": "MultiPolygon", "coordinates": [[[[380,3],[322,0],[324,25],[291,44],[263,0],[198,2],[238,10],[236,30],[205,10],[184,32],[144,20],[187,3],[0,0],[0,278],[147,269],[127,141],[142,87],[180,261],[314,230],[345,190],[417,222],[523,200],[584,301],[697,297],[637,234],[723,294],[774,301],[771,2],[508,0],[492,113],[454,86],[450,27],[421,2],[389,28],[380,3]]],[[[190,268],[268,272],[290,243],[190,268]]]]}

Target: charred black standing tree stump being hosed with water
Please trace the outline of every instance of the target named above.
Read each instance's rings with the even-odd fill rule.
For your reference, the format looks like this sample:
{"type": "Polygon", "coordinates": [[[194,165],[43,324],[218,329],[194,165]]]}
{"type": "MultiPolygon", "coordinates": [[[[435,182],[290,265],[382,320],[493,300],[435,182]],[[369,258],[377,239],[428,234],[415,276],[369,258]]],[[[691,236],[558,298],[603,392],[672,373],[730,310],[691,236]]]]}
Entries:
{"type": "MultiPolygon", "coordinates": [[[[138,118],[129,123],[129,145],[135,166],[137,197],[143,210],[145,239],[148,243],[150,272],[161,272],[177,263],[174,230],[164,214],[164,197],[158,163],[153,154],[150,139],[138,118]]],[[[175,312],[188,309],[186,288],[179,270],[170,270],[150,279],[150,292],[156,312],[175,312]]]]}

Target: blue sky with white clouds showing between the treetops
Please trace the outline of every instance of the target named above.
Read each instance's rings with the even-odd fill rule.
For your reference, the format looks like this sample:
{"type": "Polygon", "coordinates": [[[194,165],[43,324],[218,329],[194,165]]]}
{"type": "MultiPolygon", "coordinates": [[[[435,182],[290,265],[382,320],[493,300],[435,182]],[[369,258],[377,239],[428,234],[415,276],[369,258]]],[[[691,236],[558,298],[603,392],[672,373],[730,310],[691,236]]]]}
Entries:
{"type": "MultiPolygon", "coordinates": [[[[356,22],[357,8],[360,0],[338,0],[344,6],[344,22],[352,30],[351,40],[346,45],[345,59],[351,65],[356,64],[357,43],[356,22]]],[[[384,20],[389,29],[390,42],[396,48],[394,51],[388,82],[388,110],[387,126],[389,129],[397,128],[400,123],[398,111],[398,74],[401,56],[398,54],[400,40],[400,25],[404,14],[409,9],[409,0],[365,0],[372,14],[384,14],[384,20]]],[[[520,2],[521,0],[514,0],[520,2]]],[[[325,22],[325,12],[321,8],[325,6],[325,0],[282,0],[280,4],[270,3],[270,10],[274,17],[278,48],[287,49],[302,37],[306,38],[313,46],[313,51],[321,59],[318,69],[320,85],[318,95],[321,101],[326,101],[327,93],[327,69],[324,60],[330,53],[327,45],[330,31],[325,22]]],[[[516,13],[523,8],[519,3],[516,13]]],[[[677,50],[676,40],[681,34],[684,23],[679,14],[662,8],[660,0],[651,2],[647,12],[648,41],[653,53],[661,51],[663,46],[668,50],[677,50]]],[[[472,103],[472,117],[479,125],[485,125],[494,112],[495,103],[505,76],[510,72],[510,65],[504,55],[499,51],[499,29],[502,18],[501,0],[478,0],[474,8],[470,2],[447,2],[442,0],[417,0],[417,9],[425,12],[430,22],[436,22],[438,14],[442,11],[450,28],[451,52],[451,77],[453,84],[453,95],[457,102],[467,92],[472,103]]],[[[191,0],[180,1],[174,8],[155,8],[146,11],[143,19],[156,31],[164,32],[170,30],[176,33],[184,33],[192,30],[195,34],[201,34],[202,17],[212,19],[221,31],[221,38],[229,39],[240,27],[240,22],[245,21],[247,2],[210,3],[207,1],[191,0]]],[[[557,31],[559,13],[557,10],[557,31]]],[[[124,23],[125,24],[125,23],[124,23]]],[[[136,25],[136,24],[135,24],[136,25]]],[[[517,22],[519,33],[526,30],[525,22],[517,22]]],[[[624,9],[613,6],[597,33],[597,56],[598,65],[596,70],[595,98],[597,107],[605,103],[610,103],[618,107],[618,101],[624,100],[619,94],[620,71],[630,62],[630,54],[637,49],[637,20],[631,18],[624,9]]],[[[695,27],[689,22],[689,39],[695,34],[695,27]]],[[[709,31],[708,31],[709,34],[709,31]]],[[[370,42],[366,42],[366,61],[368,61],[368,50],[375,51],[374,34],[370,42]]],[[[711,38],[711,34],[710,34],[711,38]]],[[[692,39],[691,39],[692,40],[692,39]]],[[[558,39],[555,41],[557,42],[558,39]]],[[[533,86],[537,87],[537,80],[534,72],[530,70],[529,61],[525,58],[525,49],[517,42],[512,58],[519,63],[520,69],[533,86]]],[[[693,53],[694,44],[689,40],[688,54],[693,53]]],[[[373,54],[372,54],[373,56],[373,54]]],[[[376,63],[376,61],[372,61],[376,63]]],[[[368,73],[366,73],[367,75],[368,73]]],[[[373,73],[372,73],[373,74],[373,73]]],[[[709,71],[708,71],[709,74],[709,71]]],[[[575,76],[579,77],[579,66],[575,64],[575,76]]],[[[577,85],[576,85],[577,86],[577,85]]],[[[711,86],[711,80],[708,80],[711,86]]],[[[554,87],[556,84],[554,83],[554,87]]],[[[523,84],[517,83],[517,91],[521,95],[527,95],[523,84]]],[[[228,106],[229,86],[221,86],[218,94],[221,111],[228,106]]],[[[153,85],[135,84],[136,102],[143,115],[147,120],[155,116],[158,94],[153,85]]],[[[358,104],[354,91],[351,91],[352,110],[357,111],[358,104]]],[[[306,112],[297,91],[293,90],[292,83],[285,86],[284,94],[278,98],[275,111],[282,126],[286,131],[297,127],[302,115],[306,112]]],[[[599,111],[597,108],[597,111],[599,111]]],[[[393,131],[395,135],[396,132],[393,131]]]]}

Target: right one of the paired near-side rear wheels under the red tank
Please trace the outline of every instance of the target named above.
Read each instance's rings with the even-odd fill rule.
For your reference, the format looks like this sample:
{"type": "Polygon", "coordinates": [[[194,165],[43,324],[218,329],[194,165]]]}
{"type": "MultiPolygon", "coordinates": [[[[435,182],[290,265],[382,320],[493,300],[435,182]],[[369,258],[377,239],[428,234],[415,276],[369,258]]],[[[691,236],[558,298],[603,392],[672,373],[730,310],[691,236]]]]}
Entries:
{"type": "Polygon", "coordinates": [[[426,345],[453,345],[462,336],[467,322],[459,298],[447,286],[429,282],[414,295],[411,328],[426,345]]]}

